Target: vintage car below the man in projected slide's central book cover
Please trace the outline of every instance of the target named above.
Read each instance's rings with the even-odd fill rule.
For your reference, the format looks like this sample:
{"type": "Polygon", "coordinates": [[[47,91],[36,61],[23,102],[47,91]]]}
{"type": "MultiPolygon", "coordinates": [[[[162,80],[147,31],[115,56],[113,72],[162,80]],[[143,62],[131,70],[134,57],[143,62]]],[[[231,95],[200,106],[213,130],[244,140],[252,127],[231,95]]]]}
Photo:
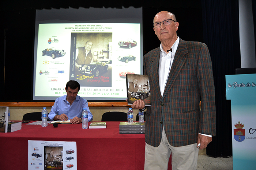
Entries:
{"type": "Polygon", "coordinates": [[[92,74],[98,77],[100,74],[107,72],[109,66],[105,62],[93,62],[92,64],[87,64],[78,69],[82,73],[92,74]]]}

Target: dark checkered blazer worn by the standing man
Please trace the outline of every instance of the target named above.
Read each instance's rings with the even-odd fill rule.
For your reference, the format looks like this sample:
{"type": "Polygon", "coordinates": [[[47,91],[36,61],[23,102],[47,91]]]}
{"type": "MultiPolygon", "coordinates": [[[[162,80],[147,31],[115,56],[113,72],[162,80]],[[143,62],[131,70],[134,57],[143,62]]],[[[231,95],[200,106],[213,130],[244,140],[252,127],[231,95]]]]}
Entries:
{"type": "Polygon", "coordinates": [[[143,57],[152,104],[147,107],[146,142],[157,147],[163,126],[170,145],[175,147],[196,143],[198,133],[215,136],[214,81],[206,44],[180,39],[163,97],[159,87],[159,57],[159,47],[143,57]]]}

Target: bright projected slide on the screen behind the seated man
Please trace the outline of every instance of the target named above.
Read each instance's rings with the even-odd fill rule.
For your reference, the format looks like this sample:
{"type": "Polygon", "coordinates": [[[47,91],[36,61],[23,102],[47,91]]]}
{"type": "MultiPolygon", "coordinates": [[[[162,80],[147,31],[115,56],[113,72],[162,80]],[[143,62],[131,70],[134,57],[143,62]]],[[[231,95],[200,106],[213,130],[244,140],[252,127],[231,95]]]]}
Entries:
{"type": "Polygon", "coordinates": [[[69,80],[80,83],[87,100],[125,100],[126,74],[142,74],[140,23],[38,24],[34,100],[66,94],[69,80]]]}

